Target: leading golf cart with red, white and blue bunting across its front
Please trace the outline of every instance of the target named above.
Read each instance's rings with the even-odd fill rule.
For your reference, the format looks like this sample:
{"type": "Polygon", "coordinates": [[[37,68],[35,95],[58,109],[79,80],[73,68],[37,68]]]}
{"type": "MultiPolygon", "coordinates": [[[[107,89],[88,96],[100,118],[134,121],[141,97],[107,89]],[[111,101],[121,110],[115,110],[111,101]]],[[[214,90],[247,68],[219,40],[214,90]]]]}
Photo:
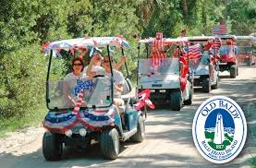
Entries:
{"type": "MultiPolygon", "coordinates": [[[[143,140],[145,119],[140,109],[126,101],[126,105],[123,106],[126,122],[123,122],[116,105],[113,105],[114,92],[119,96],[122,91],[119,84],[122,84],[123,76],[118,73],[116,78],[117,76],[114,75],[116,70],[111,67],[112,62],[109,62],[113,59],[110,55],[110,47],[116,50],[122,49],[122,55],[124,55],[123,50],[129,48],[129,44],[120,37],[93,37],[51,42],[46,47],[47,54],[50,54],[46,78],[46,104],[49,111],[43,121],[43,126],[47,129],[43,135],[43,156],[46,161],[60,160],[63,144],[66,147],[90,146],[91,142],[98,141],[104,157],[116,159],[119,153],[119,141],[132,139],[141,142],[143,140]],[[64,94],[64,80],[59,74],[67,71],[67,65],[65,65],[67,62],[55,58],[55,52],[60,49],[79,50],[79,47],[82,49],[107,48],[108,54],[103,63],[106,73],[104,77],[73,78],[77,83],[68,91],[76,95],[75,107],[63,106],[61,100],[64,94]],[[56,76],[56,72],[60,73],[56,76]],[[87,102],[86,106],[81,105],[82,101],[87,102]]],[[[90,57],[84,57],[84,59],[88,58],[90,59],[90,57]]],[[[81,67],[77,68],[80,64],[80,61],[72,64],[76,72],[81,71],[81,67]]],[[[127,93],[129,92],[130,90],[127,93]]]]}

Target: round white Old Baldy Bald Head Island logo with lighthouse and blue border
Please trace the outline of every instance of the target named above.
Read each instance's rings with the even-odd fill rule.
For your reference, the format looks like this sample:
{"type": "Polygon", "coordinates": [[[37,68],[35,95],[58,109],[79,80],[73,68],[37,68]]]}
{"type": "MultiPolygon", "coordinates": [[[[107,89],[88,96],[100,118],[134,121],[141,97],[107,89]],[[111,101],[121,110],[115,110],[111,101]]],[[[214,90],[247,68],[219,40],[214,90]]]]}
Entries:
{"type": "Polygon", "coordinates": [[[192,134],[197,150],[206,160],[230,162],[245,144],[246,119],[237,102],[225,96],[214,96],[197,110],[192,134]]]}

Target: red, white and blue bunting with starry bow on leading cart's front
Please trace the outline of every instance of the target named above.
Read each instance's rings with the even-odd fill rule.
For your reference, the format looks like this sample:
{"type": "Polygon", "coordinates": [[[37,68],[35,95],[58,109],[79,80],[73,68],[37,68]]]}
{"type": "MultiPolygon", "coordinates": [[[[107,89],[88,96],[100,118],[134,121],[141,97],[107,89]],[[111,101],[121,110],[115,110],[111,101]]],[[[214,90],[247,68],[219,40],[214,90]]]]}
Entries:
{"type": "Polygon", "coordinates": [[[104,110],[87,110],[80,111],[80,106],[83,101],[84,90],[92,90],[92,80],[82,81],[77,80],[75,94],[78,101],[75,103],[75,108],[72,112],[63,112],[56,114],[55,112],[48,113],[43,121],[43,126],[52,132],[65,133],[68,129],[76,126],[78,123],[85,126],[88,130],[99,130],[102,126],[111,126],[115,121],[115,108],[106,108],[104,110]]]}

